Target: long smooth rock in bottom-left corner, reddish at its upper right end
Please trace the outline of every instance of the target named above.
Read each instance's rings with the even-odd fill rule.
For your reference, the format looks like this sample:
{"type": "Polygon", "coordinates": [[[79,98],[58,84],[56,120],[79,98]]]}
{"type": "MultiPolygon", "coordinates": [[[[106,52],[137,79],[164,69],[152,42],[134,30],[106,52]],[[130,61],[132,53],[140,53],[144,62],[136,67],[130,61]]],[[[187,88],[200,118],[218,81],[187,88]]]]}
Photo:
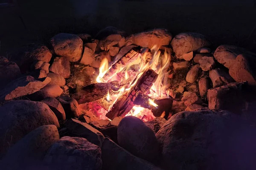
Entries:
{"type": "Polygon", "coordinates": [[[1,167],[4,170],[37,168],[49,147],[59,139],[58,129],[55,125],[40,126],[9,149],[2,160],[1,167]]]}

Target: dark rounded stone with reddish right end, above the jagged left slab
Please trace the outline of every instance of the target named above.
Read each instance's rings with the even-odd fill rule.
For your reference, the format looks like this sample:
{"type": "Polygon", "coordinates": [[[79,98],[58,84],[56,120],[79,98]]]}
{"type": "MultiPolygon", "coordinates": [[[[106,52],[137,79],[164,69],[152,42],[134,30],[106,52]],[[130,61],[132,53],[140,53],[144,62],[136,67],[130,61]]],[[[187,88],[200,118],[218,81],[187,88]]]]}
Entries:
{"type": "Polygon", "coordinates": [[[21,46],[9,56],[20,67],[20,71],[25,73],[30,70],[30,66],[35,61],[49,62],[52,58],[52,53],[45,45],[30,43],[21,46]]]}

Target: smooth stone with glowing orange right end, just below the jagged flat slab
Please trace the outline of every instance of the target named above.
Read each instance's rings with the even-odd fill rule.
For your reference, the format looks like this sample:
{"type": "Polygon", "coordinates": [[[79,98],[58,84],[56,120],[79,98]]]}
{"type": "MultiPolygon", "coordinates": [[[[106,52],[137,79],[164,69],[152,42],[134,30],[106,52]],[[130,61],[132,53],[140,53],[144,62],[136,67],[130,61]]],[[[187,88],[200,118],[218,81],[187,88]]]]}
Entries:
{"type": "Polygon", "coordinates": [[[41,90],[29,94],[26,97],[32,101],[40,101],[47,97],[56,98],[61,96],[62,92],[63,90],[58,85],[46,85],[44,88],[41,88],[41,90]]]}

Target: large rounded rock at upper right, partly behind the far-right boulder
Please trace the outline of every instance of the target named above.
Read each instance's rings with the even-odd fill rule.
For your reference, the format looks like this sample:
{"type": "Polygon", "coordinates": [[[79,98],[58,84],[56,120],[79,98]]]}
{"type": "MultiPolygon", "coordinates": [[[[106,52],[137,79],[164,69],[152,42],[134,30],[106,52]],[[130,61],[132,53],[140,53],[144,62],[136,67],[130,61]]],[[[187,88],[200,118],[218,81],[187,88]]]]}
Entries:
{"type": "MultiPolygon", "coordinates": [[[[225,67],[230,68],[239,54],[253,54],[235,45],[220,45],[214,52],[214,58],[225,67]]],[[[254,54],[256,55],[256,54],[254,54]]]]}

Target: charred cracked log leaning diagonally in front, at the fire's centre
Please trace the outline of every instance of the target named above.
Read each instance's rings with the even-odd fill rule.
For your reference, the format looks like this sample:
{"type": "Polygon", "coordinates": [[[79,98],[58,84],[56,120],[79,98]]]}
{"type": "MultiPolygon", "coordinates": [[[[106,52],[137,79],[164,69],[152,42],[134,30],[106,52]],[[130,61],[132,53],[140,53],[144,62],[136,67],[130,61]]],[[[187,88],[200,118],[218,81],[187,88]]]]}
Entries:
{"type": "Polygon", "coordinates": [[[125,116],[133,108],[137,94],[139,92],[143,94],[148,92],[153,83],[157,80],[157,77],[158,74],[150,68],[144,71],[137,82],[134,82],[135,85],[133,85],[130,90],[125,91],[125,93],[117,99],[106,116],[111,120],[116,116],[125,116]]]}

